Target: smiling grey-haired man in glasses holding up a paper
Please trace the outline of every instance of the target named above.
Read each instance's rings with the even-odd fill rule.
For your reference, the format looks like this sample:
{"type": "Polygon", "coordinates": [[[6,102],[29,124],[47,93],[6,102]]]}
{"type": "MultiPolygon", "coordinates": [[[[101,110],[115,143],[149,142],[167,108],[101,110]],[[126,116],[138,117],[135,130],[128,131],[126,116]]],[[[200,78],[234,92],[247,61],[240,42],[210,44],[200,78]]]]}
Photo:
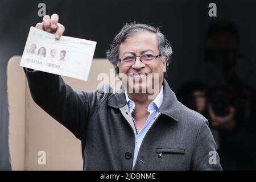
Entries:
{"type": "MultiPolygon", "coordinates": [[[[44,16],[36,27],[59,39],[58,20],[44,16]]],[[[36,104],[81,140],[85,170],[221,170],[207,119],[177,101],[163,78],[171,53],[158,28],[133,23],[107,52],[119,92],[76,92],[60,76],[24,70],[36,104]]]]}

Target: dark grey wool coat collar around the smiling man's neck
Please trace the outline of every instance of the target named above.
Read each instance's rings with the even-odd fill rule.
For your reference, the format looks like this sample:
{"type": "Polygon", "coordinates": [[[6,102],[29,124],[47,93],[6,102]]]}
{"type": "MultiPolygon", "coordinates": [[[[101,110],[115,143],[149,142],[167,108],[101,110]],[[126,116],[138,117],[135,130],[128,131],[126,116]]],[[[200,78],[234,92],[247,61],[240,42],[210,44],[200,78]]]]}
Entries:
{"type": "MultiPolygon", "coordinates": [[[[120,90],[118,90],[118,92],[113,93],[112,96],[108,98],[108,105],[116,109],[127,105],[125,92],[122,87],[120,90]]],[[[158,111],[178,122],[178,101],[175,93],[171,90],[168,82],[165,79],[163,81],[163,103],[158,111]]]]}

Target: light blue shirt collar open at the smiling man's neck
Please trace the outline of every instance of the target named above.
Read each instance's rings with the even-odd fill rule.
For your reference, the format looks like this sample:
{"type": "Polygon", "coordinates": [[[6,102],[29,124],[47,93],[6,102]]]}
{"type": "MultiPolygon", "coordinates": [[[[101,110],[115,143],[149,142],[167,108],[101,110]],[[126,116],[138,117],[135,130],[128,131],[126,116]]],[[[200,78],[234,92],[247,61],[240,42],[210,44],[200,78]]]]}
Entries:
{"type": "MultiPolygon", "coordinates": [[[[127,92],[125,92],[125,98],[126,98],[126,102],[127,102],[128,107],[131,110],[133,110],[135,108],[135,103],[132,100],[130,100],[130,98],[128,97],[127,92]]],[[[163,85],[161,87],[161,90],[160,90],[158,96],[156,96],[155,100],[152,101],[150,103],[150,105],[148,105],[148,111],[159,109],[159,107],[162,105],[162,102],[163,102],[163,85]]]]}

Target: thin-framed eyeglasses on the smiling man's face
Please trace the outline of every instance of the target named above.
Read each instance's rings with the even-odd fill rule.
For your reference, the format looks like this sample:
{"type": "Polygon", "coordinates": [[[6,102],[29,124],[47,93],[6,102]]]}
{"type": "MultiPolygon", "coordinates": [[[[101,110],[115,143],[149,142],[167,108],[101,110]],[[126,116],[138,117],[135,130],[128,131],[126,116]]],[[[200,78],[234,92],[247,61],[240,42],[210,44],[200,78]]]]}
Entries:
{"type": "Polygon", "coordinates": [[[141,55],[141,56],[124,56],[119,61],[121,61],[121,64],[124,65],[133,65],[135,63],[135,60],[137,57],[139,57],[144,64],[149,64],[152,62],[152,60],[160,57],[161,55],[151,55],[151,54],[146,54],[146,55],[141,55]]]}

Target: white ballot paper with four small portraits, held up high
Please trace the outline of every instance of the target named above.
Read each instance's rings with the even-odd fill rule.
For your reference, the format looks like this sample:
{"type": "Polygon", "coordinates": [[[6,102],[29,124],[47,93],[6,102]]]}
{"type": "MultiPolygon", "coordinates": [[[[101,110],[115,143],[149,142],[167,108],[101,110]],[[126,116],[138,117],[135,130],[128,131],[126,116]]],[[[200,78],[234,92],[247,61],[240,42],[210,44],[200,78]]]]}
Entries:
{"type": "Polygon", "coordinates": [[[55,35],[31,27],[20,67],[88,80],[96,42],[55,35]]]}

